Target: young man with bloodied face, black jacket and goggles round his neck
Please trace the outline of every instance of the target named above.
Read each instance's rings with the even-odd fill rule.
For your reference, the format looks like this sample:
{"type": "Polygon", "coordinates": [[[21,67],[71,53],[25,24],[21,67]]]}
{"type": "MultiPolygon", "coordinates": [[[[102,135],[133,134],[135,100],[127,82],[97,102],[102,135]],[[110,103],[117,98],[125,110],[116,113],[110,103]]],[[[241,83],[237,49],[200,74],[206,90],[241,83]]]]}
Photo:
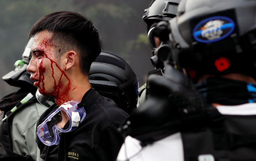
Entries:
{"type": "Polygon", "coordinates": [[[37,123],[43,160],[114,160],[123,138],[117,128],[127,114],[91,88],[87,73],[101,52],[93,23],[81,14],[59,11],[38,20],[27,67],[30,79],[53,104],[37,123]]]}

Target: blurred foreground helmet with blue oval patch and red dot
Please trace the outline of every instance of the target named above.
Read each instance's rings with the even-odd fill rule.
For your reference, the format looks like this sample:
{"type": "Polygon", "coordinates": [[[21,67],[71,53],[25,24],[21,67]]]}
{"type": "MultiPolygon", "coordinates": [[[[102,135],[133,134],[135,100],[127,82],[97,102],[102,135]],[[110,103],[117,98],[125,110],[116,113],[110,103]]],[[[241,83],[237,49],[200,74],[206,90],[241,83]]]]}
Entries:
{"type": "Polygon", "coordinates": [[[256,1],[182,0],[169,21],[173,57],[194,80],[242,73],[256,79],[256,1]]]}

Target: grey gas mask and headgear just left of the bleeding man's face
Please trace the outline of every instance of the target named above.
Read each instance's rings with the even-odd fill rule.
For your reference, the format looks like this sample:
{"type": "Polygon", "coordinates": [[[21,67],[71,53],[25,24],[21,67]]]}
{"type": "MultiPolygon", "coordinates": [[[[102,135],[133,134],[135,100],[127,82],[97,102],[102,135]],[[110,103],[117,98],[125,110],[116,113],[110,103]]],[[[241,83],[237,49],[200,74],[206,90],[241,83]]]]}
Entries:
{"type": "Polygon", "coordinates": [[[14,63],[15,69],[10,71],[2,77],[2,79],[15,87],[31,86],[30,88],[35,88],[33,86],[33,81],[30,80],[30,73],[27,72],[27,65],[32,57],[31,46],[33,43],[33,38],[27,43],[25,50],[22,54],[22,60],[18,60],[14,63]]]}

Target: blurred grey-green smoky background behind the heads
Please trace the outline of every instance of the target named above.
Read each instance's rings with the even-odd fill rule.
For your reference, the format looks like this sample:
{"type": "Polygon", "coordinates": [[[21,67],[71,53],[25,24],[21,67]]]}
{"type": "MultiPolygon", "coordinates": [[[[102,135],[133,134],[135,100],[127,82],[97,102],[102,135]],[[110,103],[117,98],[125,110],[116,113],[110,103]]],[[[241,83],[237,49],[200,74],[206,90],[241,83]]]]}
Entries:
{"type": "MultiPolygon", "coordinates": [[[[33,24],[54,11],[74,11],[91,19],[99,30],[103,50],[124,58],[144,84],[147,72],[153,70],[151,49],[147,43],[144,9],[151,0],[2,0],[0,1],[0,76],[14,70],[22,59],[33,24]]],[[[14,92],[0,80],[0,98],[14,92]]]]}

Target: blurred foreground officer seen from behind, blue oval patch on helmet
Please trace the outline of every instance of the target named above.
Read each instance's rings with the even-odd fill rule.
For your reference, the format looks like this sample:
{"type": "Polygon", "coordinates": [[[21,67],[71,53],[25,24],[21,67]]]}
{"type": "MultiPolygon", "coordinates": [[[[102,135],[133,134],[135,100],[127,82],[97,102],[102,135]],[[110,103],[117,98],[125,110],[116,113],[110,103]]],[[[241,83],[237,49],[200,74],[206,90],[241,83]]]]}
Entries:
{"type": "Polygon", "coordinates": [[[123,126],[118,160],[256,159],[255,11],[255,1],[181,1],[169,21],[173,61],[195,86],[169,64],[152,76],[158,93],[123,126]]]}

